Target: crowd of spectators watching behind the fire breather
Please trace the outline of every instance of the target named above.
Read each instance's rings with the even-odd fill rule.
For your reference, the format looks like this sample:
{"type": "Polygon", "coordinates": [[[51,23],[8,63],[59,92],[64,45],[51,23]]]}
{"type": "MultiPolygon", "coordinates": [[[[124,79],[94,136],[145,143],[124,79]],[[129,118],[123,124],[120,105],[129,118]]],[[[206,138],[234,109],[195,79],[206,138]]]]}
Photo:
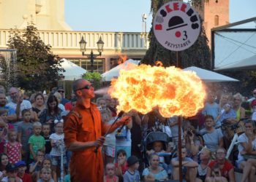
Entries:
{"type": "MultiPolygon", "coordinates": [[[[193,119],[182,119],[182,171],[187,181],[236,181],[234,168],[243,170],[241,181],[255,181],[255,98],[245,100],[236,93],[217,100],[208,92],[205,107],[193,119]],[[242,103],[249,103],[243,108],[242,103]],[[247,121],[239,122],[248,117],[247,121]],[[238,153],[226,159],[239,122],[238,153]],[[225,128],[225,129],[223,129],[225,128]],[[230,160],[231,159],[231,160],[230,160]]],[[[102,122],[112,124],[118,100],[103,95],[97,100],[102,122]]],[[[58,87],[49,95],[29,95],[0,86],[0,181],[70,181],[71,152],[64,146],[65,116],[76,98],[64,98],[58,87]],[[25,97],[26,95],[26,97],[25,97]],[[30,97],[29,97],[30,96],[30,97]],[[62,157],[61,157],[62,156],[62,157]],[[62,167],[61,167],[62,166],[62,167]]],[[[132,122],[108,134],[102,146],[105,181],[166,181],[179,179],[178,116],[165,118],[157,108],[148,114],[132,110],[132,122]],[[149,132],[165,132],[170,140],[145,146],[149,132]],[[164,154],[164,155],[163,155],[164,154]]],[[[256,116],[256,114],[255,114],[256,116]]],[[[234,148],[236,150],[236,147],[234,148]]]]}

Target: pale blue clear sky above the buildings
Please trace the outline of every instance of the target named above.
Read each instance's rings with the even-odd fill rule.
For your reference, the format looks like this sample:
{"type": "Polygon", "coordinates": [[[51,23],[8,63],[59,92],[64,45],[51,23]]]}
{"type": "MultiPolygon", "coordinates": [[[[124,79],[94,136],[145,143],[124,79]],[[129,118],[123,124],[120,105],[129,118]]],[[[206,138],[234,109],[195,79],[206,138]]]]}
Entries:
{"type": "MultiPolygon", "coordinates": [[[[151,28],[151,0],[64,0],[66,22],[74,31],[146,31],[151,28]]],[[[226,0],[219,0],[226,1],[226,0]]],[[[256,17],[256,0],[230,0],[230,23],[256,17]]],[[[255,24],[256,25],[256,24],[255,24]]]]}

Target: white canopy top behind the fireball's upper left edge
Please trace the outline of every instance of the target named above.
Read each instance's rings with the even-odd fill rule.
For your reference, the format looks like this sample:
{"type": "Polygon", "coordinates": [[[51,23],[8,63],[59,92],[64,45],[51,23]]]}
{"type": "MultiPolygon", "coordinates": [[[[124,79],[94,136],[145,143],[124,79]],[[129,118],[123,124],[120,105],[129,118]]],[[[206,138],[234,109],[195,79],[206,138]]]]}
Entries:
{"type": "Polygon", "coordinates": [[[129,59],[124,63],[121,63],[120,65],[116,66],[115,68],[112,68],[109,71],[106,71],[104,74],[102,74],[102,80],[109,82],[111,81],[111,79],[118,78],[119,71],[121,69],[130,70],[138,66],[139,63],[140,63],[140,60],[129,59]]]}

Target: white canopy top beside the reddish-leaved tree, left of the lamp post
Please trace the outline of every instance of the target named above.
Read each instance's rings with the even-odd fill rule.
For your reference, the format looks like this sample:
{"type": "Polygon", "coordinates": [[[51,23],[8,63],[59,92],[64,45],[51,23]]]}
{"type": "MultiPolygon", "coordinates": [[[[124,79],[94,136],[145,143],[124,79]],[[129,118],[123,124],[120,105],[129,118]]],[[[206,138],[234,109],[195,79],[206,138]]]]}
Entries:
{"type": "Polygon", "coordinates": [[[75,63],[72,63],[65,58],[61,60],[63,60],[61,66],[65,71],[60,71],[59,74],[63,74],[65,76],[64,80],[80,79],[83,74],[86,74],[87,71],[84,68],[77,66],[75,63]]]}

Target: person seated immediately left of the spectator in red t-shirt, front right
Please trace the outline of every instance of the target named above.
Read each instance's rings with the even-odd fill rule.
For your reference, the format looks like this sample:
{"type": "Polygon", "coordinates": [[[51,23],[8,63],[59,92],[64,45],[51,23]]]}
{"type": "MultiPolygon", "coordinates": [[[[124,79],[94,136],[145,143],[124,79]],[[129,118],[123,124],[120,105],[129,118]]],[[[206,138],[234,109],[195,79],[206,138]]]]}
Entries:
{"type": "Polygon", "coordinates": [[[207,167],[211,162],[211,151],[207,148],[203,149],[200,153],[200,165],[197,167],[196,182],[203,182],[206,180],[207,167]]]}

